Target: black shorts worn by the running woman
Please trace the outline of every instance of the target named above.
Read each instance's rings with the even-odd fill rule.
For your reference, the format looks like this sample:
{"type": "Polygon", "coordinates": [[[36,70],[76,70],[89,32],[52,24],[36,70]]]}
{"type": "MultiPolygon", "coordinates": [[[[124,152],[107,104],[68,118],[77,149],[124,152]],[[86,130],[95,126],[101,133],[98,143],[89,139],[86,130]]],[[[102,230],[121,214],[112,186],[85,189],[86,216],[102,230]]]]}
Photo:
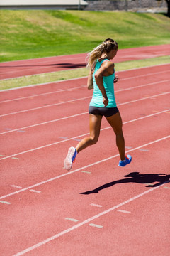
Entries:
{"type": "Polygon", "coordinates": [[[118,113],[118,107],[94,107],[89,106],[89,114],[100,114],[104,117],[111,117],[118,113]]]}

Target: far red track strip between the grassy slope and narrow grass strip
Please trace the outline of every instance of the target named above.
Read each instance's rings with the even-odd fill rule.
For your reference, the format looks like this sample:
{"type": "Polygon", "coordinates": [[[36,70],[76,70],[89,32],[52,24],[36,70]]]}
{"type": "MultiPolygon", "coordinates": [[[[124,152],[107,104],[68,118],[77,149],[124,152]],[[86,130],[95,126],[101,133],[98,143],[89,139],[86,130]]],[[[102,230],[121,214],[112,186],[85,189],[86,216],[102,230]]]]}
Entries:
{"type": "MultiPolygon", "coordinates": [[[[118,50],[118,55],[115,57],[114,62],[120,63],[127,60],[140,60],[164,55],[170,55],[170,44],[120,49],[118,50]]],[[[73,68],[83,68],[85,66],[86,53],[30,60],[17,60],[0,63],[0,79],[17,78],[23,75],[50,73],[73,68]]]]}

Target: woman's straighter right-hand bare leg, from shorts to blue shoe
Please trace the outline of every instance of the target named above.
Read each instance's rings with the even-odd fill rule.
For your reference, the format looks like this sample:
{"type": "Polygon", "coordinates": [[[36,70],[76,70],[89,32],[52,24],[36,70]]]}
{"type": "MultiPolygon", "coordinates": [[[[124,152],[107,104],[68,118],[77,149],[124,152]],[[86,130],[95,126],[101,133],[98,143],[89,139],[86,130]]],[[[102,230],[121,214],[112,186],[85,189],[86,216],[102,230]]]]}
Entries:
{"type": "Polygon", "coordinates": [[[106,117],[109,124],[113,128],[116,136],[116,145],[118,146],[118,151],[120,154],[120,160],[125,160],[125,139],[123,137],[123,122],[120,117],[120,113],[116,113],[111,117],[106,117]]]}

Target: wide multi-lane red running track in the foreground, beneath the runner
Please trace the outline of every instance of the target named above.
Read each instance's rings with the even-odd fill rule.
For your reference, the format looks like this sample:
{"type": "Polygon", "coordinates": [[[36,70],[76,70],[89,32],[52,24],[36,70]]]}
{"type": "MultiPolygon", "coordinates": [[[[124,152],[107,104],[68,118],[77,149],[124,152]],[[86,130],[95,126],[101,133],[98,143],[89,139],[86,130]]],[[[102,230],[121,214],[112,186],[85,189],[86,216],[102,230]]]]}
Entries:
{"type": "Polygon", "coordinates": [[[169,255],[169,68],[118,74],[125,168],[103,119],[98,143],[62,169],[89,134],[84,78],[0,92],[1,255],[169,255]]]}

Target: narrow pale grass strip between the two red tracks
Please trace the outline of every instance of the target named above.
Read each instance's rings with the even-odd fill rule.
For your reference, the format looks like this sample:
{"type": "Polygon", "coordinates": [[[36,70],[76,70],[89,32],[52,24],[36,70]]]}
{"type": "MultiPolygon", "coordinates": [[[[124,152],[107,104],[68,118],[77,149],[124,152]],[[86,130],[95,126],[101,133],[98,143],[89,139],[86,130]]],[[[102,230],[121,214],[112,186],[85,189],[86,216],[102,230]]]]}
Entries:
{"type": "MultiPolygon", "coordinates": [[[[170,63],[169,56],[149,58],[145,60],[131,60],[125,61],[123,63],[115,63],[115,70],[128,70],[132,68],[141,68],[151,65],[159,65],[170,63]]],[[[23,87],[28,85],[36,85],[45,82],[54,82],[72,78],[86,77],[89,73],[87,68],[77,68],[75,70],[65,70],[55,73],[45,73],[41,75],[28,75],[22,78],[12,78],[8,80],[0,81],[0,90],[11,89],[15,87],[23,87]]]]}

